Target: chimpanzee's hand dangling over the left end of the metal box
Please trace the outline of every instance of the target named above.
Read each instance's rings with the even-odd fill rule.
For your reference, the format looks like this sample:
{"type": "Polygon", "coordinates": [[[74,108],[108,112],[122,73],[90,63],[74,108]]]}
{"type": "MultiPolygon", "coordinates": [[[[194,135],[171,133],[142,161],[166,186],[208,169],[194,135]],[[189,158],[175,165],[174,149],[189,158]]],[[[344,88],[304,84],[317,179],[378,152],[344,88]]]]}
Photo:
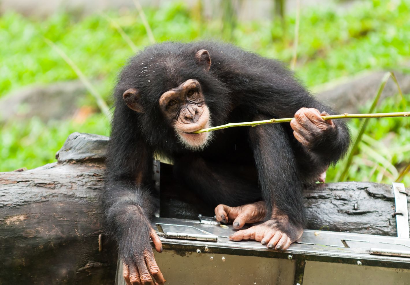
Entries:
{"type": "MultiPolygon", "coordinates": [[[[150,230],[146,234],[149,234],[149,237],[153,241],[155,250],[162,252],[162,244],[159,237],[150,225],[148,225],[148,227],[150,230]]],[[[125,282],[128,285],[164,284],[165,279],[158,268],[157,262],[155,262],[149,238],[130,236],[127,241],[130,244],[125,243],[125,246],[131,246],[130,250],[134,251],[134,255],[132,260],[123,260],[123,276],[125,282]],[[142,242],[143,244],[141,244],[141,241],[144,241],[142,242]]]]}

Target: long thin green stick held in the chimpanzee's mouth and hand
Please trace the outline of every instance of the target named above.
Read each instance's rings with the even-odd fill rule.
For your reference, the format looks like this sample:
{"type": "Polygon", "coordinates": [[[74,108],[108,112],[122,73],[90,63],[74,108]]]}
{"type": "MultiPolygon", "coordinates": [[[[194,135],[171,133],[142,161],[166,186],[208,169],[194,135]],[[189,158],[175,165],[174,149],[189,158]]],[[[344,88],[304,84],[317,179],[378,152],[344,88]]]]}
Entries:
{"type": "MultiPolygon", "coordinates": [[[[397,113],[374,113],[374,114],[340,114],[340,115],[328,115],[321,116],[323,120],[335,120],[335,119],[346,119],[346,118],[385,118],[385,117],[410,117],[410,112],[397,112],[397,113]]],[[[255,122],[243,122],[243,123],[228,123],[221,126],[213,126],[212,128],[202,129],[199,131],[194,131],[193,133],[207,133],[210,131],[216,131],[226,128],[232,128],[234,126],[258,126],[263,124],[275,124],[275,123],[285,123],[290,122],[294,118],[283,118],[283,119],[270,119],[255,122]]]]}

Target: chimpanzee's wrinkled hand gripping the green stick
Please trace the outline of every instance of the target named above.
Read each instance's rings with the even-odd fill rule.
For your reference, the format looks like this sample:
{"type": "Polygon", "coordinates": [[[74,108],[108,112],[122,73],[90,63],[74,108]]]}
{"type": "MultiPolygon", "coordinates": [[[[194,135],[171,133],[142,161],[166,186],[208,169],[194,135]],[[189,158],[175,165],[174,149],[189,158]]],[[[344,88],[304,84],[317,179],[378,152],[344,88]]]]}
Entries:
{"type": "Polygon", "coordinates": [[[295,118],[290,122],[293,135],[307,149],[310,149],[315,142],[336,126],[332,120],[323,120],[321,116],[329,115],[326,112],[320,113],[315,108],[300,108],[295,113],[295,118]]]}

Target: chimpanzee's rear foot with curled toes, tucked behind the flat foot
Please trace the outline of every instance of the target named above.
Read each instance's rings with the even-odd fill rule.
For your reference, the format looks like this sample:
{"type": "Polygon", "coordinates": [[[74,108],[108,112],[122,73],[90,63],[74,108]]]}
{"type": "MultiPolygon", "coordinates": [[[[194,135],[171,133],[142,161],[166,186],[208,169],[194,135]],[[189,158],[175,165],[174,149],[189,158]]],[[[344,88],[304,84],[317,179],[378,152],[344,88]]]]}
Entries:
{"type": "Polygon", "coordinates": [[[265,202],[259,201],[239,207],[229,207],[220,204],[215,208],[216,221],[232,223],[235,229],[242,228],[245,223],[257,223],[263,221],[266,216],[265,202]]]}

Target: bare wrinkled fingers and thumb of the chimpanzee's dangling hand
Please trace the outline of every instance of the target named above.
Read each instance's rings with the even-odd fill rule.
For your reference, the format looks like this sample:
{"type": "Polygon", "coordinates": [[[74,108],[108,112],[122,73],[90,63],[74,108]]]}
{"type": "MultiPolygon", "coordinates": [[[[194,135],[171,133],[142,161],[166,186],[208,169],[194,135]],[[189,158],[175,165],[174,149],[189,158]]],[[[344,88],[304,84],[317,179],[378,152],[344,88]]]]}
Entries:
{"type": "MultiPolygon", "coordinates": [[[[155,250],[162,252],[161,241],[153,228],[150,229],[150,238],[155,250]]],[[[127,264],[123,260],[123,276],[127,285],[162,285],[166,281],[155,262],[150,244],[144,248],[143,252],[135,253],[134,262],[127,264]]]]}

